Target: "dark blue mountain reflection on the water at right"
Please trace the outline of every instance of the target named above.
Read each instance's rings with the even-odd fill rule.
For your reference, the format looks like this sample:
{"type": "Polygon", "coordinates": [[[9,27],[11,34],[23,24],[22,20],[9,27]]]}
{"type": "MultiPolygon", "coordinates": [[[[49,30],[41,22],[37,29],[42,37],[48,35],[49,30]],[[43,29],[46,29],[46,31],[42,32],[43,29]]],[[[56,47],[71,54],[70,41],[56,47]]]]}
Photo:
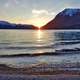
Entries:
{"type": "Polygon", "coordinates": [[[80,32],[76,31],[63,31],[63,32],[56,32],[55,36],[59,38],[59,40],[80,40],[80,32]]]}

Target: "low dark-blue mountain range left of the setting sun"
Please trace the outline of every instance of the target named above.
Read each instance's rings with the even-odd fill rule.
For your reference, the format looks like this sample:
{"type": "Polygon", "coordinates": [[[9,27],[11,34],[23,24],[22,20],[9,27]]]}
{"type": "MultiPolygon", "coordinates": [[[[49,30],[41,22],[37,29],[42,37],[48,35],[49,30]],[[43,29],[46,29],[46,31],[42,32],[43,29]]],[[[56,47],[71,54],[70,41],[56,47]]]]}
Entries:
{"type": "Polygon", "coordinates": [[[0,21],[0,29],[37,29],[37,27],[27,24],[13,24],[7,21],[0,21]]]}

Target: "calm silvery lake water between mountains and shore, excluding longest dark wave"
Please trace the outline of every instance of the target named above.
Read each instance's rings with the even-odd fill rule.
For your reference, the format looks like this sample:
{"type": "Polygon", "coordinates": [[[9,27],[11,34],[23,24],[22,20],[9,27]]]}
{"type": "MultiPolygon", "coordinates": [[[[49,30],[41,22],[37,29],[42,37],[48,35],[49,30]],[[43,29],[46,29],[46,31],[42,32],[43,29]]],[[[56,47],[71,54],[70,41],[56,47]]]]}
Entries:
{"type": "MultiPolygon", "coordinates": [[[[0,55],[34,54],[75,48],[80,48],[79,30],[0,30],[0,55]]],[[[80,62],[80,54],[0,58],[0,63],[14,65],[42,62],[80,62]]]]}

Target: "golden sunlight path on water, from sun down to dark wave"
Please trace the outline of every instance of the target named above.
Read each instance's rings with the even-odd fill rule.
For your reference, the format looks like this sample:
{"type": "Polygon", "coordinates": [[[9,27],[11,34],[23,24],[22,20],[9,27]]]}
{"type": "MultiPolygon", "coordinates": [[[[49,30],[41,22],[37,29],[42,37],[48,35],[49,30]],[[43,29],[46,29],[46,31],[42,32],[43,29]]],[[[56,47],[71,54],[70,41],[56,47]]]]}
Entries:
{"type": "Polygon", "coordinates": [[[41,47],[39,50],[37,50],[38,53],[43,53],[45,52],[48,52],[49,50],[50,51],[53,51],[51,49],[48,49],[48,47],[50,46],[51,44],[51,35],[48,31],[45,31],[45,30],[38,30],[36,33],[36,43],[37,43],[37,47],[41,47]],[[45,48],[47,47],[47,48],[45,48]]]}

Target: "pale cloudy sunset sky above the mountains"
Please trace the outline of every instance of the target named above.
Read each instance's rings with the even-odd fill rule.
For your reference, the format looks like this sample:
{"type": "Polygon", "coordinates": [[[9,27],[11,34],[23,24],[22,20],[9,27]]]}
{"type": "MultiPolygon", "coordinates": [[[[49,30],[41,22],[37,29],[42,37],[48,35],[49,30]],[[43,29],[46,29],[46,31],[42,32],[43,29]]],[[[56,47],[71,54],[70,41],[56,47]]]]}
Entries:
{"type": "Polygon", "coordinates": [[[0,20],[40,27],[65,8],[80,8],[80,0],[0,0],[0,20]]]}

